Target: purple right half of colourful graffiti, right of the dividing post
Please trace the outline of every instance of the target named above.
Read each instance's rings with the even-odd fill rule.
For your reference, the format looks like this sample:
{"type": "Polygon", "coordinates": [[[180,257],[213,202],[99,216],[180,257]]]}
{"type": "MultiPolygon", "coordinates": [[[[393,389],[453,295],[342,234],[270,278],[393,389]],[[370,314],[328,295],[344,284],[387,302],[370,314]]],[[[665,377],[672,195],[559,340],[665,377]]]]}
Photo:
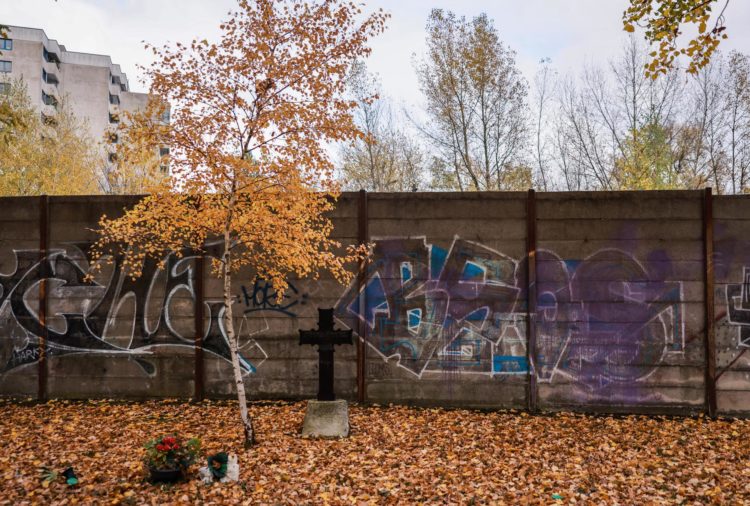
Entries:
{"type": "Polygon", "coordinates": [[[682,283],[649,272],[619,249],[581,261],[550,251],[537,257],[540,381],[560,375],[591,388],[630,383],[684,352],[682,283]]]}

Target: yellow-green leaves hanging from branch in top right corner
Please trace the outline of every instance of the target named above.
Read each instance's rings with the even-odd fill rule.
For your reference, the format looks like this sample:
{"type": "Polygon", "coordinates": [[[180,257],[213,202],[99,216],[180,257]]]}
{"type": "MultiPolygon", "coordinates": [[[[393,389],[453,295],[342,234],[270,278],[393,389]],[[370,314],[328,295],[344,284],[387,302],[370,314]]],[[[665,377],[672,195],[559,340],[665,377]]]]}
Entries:
{"type": "Polygon", "coordinates": [[[623,26],[627,32],[634,32],[636,25],[645,29],[653,49],[646,75],[656,78],[667,73],[680,55],[688,57],[691,74],[708,65],[721,40],[727,38],[724,11],[728,4],[729,0],[630,0],[623,26]],[[720,10],[712,22],[717,7],[720,10]],[[692,26],[697,34],[682,45],[679,39],[685,26],[692,26]]]}

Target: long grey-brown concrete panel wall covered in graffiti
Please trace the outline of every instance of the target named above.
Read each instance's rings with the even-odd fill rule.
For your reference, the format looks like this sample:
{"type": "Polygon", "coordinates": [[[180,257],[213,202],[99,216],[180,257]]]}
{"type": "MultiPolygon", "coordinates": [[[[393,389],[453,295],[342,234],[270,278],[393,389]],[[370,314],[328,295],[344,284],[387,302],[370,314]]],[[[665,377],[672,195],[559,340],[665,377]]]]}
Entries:
{"type": "MultiPolygon", "coordinates": [[[[526,193],[370,194],[374,256],[360,284],[292,279],[281,303],[250,272],[236,278],[235,324],[247,393],[312,397],[317,353],[298,345],[318,307],[366,343],[372,402],[692,413],[706,409],[701,192],[536,197],[536,354],[528,357],[526,193]]],[[[83,279],[102,213],[134,197],[50,199],[47,283],[52,397],[189,397],[195,383],[190,255],[132,282],[119,265],[83,279]]],[[[332,218],[358,241],[358,195],[332,218]]],[[[720,412],[750,412],[750,199],[715,197],[720,412]]],[[[39,384],[37,198],[0,199],[0,394],[39,384]]],[[[204,276],[204,391],[233,395],[219,281],[204,276]]],[[[356,346],[336,352],[336,391],[357,396],[356,346]]]]}

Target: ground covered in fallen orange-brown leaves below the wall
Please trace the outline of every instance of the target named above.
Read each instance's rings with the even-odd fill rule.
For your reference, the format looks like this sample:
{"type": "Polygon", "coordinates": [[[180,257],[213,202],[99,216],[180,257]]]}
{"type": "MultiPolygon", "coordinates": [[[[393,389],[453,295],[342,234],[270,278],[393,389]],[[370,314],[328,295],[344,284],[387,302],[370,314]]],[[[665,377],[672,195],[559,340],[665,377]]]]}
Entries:
{"type": "Polygon", "coordinates": [[[299,435],[304,403],[0,403],[0,504],[750,503],[750,420],[350,407],[352,435],[299,435]],[[145,481],[142,444],[179,431],[238,451],[241,481],[145,481]],[[72,464],[80,486],[42,485],[72,464]]]}

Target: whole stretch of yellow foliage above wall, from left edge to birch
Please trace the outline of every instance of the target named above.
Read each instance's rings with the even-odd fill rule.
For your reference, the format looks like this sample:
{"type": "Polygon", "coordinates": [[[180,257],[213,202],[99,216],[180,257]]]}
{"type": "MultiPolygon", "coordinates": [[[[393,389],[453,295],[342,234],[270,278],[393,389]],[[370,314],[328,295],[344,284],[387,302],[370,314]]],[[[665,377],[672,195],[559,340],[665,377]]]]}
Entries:
{"type": "MultiPolygon", "coordinates": [[[[88,125],[65,97],[51,111],[33,106],[22,80],[0,93],[0,196],[145,193],[164,177],[164,162],[152,150],[120,143],[108,160],[88,125]]],[[[111,135],[113,132],[109,132],[111,135]]]]}

